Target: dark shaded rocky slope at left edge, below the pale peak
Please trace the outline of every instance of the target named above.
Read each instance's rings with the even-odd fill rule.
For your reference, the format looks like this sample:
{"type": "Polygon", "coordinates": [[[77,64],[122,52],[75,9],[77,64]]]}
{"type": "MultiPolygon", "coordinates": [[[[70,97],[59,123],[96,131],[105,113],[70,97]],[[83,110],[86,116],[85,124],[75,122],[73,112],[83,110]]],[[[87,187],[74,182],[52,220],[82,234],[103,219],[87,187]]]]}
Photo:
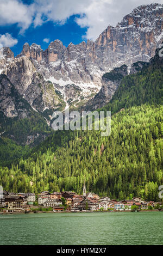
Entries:
{"type": "Polygon", "coordinates": [[[7,137],[17,144],[33,147],[48,135],[49,128],[48,125],[46,126],[46,120],[33,110],[4,74],[0,75],[0,115],[1,143],[3,143],[3,137],[7,137]],[[26,119],[21,123],[22,118],[26,119]],[[33,126],[36,127],[36,121],[39,121],[45,130],[38,127],[34,130],[33,126]],[[23,126],[26,124],[27,127],[23,126]],[[28,127],[29,124],[31,124],[31,129],[28,127]],[[20,136],[17,136],[15,128],[20,136]]]}

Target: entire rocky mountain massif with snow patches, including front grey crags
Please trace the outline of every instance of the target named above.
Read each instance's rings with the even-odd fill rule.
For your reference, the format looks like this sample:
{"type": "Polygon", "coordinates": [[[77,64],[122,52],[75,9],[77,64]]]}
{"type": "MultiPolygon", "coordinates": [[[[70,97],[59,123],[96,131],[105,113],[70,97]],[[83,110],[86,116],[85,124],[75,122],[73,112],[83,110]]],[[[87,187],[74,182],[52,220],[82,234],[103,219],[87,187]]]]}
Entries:
{"type": "MultiPolygon", "coordinates": [[[[146,65],[141,59],[144,57],[148,59],[147,53],[154,56],[152,52],[154,52],[156,44],[161,42],[159,40],[161,39],[162,28],[163,5],[141,5],[135,8],[131,14],[126,15],[116,27],[106,28],[96,42],[88,40],[87,43],[81,42],[78,45],[71,43],[66,48],[61,41],[55,40],[49,44],[45,51],[41,49],[41,46],[36,44],[29,46],[26,43],[23,52],[15,58],[9,47],[4,47],[0,50],[0,74],[6,76],[20,95],[19,97],[22,97],[30,109],[39,115],[39,120],[42,120],[43,117],[44,121],[51,125],[52,114],[56,110],[64,111],[68,106],[71,109],[80,109],[80,106],[89,107],[89,103],[91,103],[91,108],[95,109],[108,103],[117,91],[120,81],[118,84],[112,84],[112,88],[111,86],[109,88],[102,78],[106,76],[104,74],[108,73],[105,70],[112,70],[111,63],[113,60],[117,65],[115,70],[120,70],[123,65],[126,65],[120,64],[127,62],[127,59],[123,59],[124,56],[129,57],[128,70],[130,72],[135,73],[137,70],[141,70],[142,66],[146,65]],[[145,17],[147,18],[146,22],[145,17]],[[140,32],[139,36],[137,36],[138,32],[140,32]],[[117,44],[114,39],[116,39],[117,44]],[[123,44],[121,44],[122,42],[123,44]],[[139,56],[138,62],[136,64],[134,62],[135,65],[132,62],[132,54],[139,56]],[[116,56],[115,59],[114,56],[116,56]],[[113,59],[111,60],[111,58],[113,59]],[[73,79],[71,80],[69,75],[67,82],[63,80],[66,74],[69,74],[70,69],[70,76],[74,80],[77,78],[77,72],[79,77],[77,82],[72,83],[73,79]],[[88,77],[90,80],[87,80],[88,77]],[[97,80],[101,81],[102,87],[99,83],[97,83],[98,85],[94,83],[94,78],[96,80],[97,77],[97,80]],[[110,93],[109,90],[111,90],[110,93]]],[[[134,59],[137,60],[137,57],[134,59]]],[[[23,109],[18,107],[19,105],[15,105],[15,109],[13,108],[14,98],[11,99],[11,102],[8,100],[9,88],[5,87],[4,84],[1,84],[1,87],[0,110],[3,115],[6,114],[5,118],[15,118],[16,115],[18,119],[23,118],[23,115],[19,114],[22,113],[23,109]],[[16,112],[16,108],[18,112],[16,112]]],[[[25,112],[28,113],[28,109],[25,109],[25,112]]],[[[2,130],[4,119],[1,121],[2,130]]],[[[36,130],[39,131],[37,132],[39,134],[38,127],[36,130]]],[[[30,129],[27,133],[26,136],[29,136],[27,143],[33,144],[32,138],[34,137],[31,137],[33,134],[30,133],[30,129]]],[[[39,137],[37,133],[34,136],[39,137]]]]}

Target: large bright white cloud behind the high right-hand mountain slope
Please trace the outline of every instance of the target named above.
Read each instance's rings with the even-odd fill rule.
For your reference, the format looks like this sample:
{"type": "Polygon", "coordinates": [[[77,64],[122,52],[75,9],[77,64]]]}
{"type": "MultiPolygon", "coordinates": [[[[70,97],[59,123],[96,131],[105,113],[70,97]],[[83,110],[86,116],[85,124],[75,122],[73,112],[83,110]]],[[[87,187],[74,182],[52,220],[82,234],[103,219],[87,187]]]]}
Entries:
{"type": "MultiPolygon", "coordinates": [[[[163,4],[163,0],[156,2],[163,4]]],[[[134,8],[150,3],[149,0],[93,0],[85,9],[85,15],[76,22],[80,27],[87,27],[86,39],[96,40],[106,27],[116,26],[134,8]]]]}

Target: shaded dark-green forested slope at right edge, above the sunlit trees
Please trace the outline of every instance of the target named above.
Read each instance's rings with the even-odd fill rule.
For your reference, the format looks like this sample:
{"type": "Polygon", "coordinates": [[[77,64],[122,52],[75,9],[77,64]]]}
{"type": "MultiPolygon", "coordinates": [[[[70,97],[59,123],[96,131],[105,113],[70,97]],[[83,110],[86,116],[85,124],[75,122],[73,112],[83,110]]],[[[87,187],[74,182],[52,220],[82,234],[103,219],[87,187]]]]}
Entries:
{"type": "Polygon", "coordinates": [[[151,59],[149,65],[134,75],[128,75],[121,81],[112,100],[101,110],[117,113],[121,108],[142,104],[163,104],[163,57],[151,59]]]}

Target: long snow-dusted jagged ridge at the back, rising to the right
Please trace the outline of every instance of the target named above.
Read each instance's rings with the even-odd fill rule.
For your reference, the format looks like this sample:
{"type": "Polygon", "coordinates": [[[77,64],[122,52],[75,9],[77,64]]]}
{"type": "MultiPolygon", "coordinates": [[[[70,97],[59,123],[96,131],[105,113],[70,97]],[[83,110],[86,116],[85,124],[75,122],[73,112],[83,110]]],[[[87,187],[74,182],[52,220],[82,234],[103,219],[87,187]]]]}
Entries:
{"type": "MultiPolygon", "coordinates": [[[[108,26],[96,39],[65,47],[60,40],[52,41],[46,50],[33,43],[25,43],[15,58],[9,48],[0,52],[0,69],[5,72],[10,61],[26,56],[32,60],[37,72],[59,90],[66,106],[80,105],[97,94],[102,86],[102,76],[123,64],[130,70],[137,61],[147,62],[154,56],[162,39],[163,5],[149,4],[135,8],[123,17],[116,27],[108,26]],[[5,54],[7,57],[5,58],[5,54]],[[2,57],[2,58],[1,58],[2,57]],[[5,60],[6,59],[6,60],[5,60]],[[67,96],[65,86],[73,84],[81,89],[73,99],[67,96]],[[84,99],[83,99],[84,98],[84,99]],[[73,104],[74,102],[74,104],[73,104]]],[[[30,70],[29,70],[30,71],[30,70]]]]}

